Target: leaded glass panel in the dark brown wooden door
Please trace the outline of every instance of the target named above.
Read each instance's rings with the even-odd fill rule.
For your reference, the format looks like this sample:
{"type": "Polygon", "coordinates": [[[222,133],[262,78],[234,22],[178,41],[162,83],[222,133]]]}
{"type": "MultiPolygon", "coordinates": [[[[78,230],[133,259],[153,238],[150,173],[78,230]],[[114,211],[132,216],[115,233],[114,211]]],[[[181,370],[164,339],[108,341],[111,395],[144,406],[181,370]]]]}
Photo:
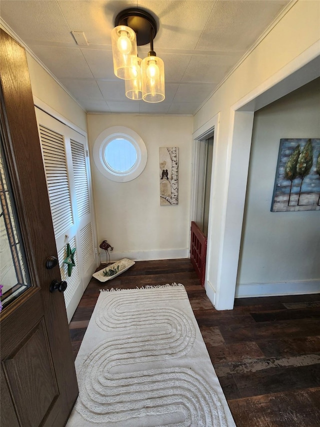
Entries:
{"type": "Polygon", "coordinates": [[[0,310],[30,287],[2,146],[0,154],[0,310]]]}

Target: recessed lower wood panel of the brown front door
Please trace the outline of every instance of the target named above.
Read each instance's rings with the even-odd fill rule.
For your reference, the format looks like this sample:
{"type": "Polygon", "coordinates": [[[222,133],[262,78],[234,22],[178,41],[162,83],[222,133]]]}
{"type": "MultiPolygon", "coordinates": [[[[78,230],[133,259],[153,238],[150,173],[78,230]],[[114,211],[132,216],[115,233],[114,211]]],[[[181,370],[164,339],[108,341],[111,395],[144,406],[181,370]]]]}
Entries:
{"type": "Polygon", "coordinates": [[[43,319],[2,363],[21,424],[40,425],[58,395],[43,319]]]}

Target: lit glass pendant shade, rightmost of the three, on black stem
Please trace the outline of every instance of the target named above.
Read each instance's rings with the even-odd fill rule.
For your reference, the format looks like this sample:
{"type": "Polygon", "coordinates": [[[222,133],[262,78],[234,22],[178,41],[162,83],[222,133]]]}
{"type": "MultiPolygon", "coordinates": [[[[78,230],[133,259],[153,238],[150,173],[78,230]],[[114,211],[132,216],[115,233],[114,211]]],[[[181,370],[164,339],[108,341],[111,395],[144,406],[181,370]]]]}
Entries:
{"type": "MultiPolygon", "coordinates": [[[[154,52],[152,53],[154,54],[154,52]]],[[[142,60],[141,81],[143,101],[161,102],[164,100],[164,64],[160,58],[150,55],[142,60]]]]}

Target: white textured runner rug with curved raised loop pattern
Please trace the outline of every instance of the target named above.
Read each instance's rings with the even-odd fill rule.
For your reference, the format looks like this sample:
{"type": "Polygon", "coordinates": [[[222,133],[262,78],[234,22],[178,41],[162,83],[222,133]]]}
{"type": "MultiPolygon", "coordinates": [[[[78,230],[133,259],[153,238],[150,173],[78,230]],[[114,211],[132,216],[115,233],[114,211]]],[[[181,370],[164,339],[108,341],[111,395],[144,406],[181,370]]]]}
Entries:
{"type": "Polygon", "coordinates": [[[234,427],[181,284],[101,292],[67,427],[234,427]]]}

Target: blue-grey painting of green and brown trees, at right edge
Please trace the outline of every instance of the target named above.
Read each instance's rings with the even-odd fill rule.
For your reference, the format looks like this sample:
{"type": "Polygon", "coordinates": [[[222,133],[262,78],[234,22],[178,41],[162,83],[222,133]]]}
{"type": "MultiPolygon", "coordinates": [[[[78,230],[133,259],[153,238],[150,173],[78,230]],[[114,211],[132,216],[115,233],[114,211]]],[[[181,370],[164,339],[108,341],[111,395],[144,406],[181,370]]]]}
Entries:
{"type": "Polygon", "coordinates": [[[280,139],[271,212],[320,210],[320,139],[280,139]]]}

